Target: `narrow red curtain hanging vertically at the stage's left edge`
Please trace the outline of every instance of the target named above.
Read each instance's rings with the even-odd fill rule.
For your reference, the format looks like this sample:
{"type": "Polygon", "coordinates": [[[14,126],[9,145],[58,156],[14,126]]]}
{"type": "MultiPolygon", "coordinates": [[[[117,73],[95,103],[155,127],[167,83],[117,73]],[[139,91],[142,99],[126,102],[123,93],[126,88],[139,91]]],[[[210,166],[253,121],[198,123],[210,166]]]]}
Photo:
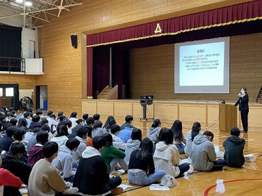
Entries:
{"type": "Polygon", "coordinates": [[[87,56],[87,99],[93,99],[93,47],[86,49],[87,56]]]}

